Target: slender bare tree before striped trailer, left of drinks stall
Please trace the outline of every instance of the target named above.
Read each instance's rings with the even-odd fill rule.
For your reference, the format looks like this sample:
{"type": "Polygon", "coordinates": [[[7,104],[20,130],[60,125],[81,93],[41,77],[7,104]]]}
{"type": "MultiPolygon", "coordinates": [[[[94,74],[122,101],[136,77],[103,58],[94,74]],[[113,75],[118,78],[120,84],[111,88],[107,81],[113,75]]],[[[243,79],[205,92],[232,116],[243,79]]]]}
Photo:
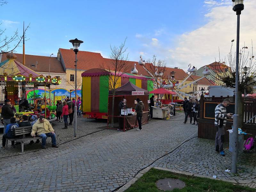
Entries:
{"type": "Polygon", "coordinates": [[[116,93],[116,88],[120,87],[121,84],[120,78],[124,73],[129,72],[130,66],[127,65],[128,61],[128,54],[125,54],[127,51],[127,48],[124,48],[125,42],[126,42],[127,37],[125,38],[124,42],[121,43],[118,47],[115,45],[112,47],[110,45],[110,50],[111,53],[109,55],[109,59],[111,59],[110,64],[102,64],[100,65],[101,69],[104,69],[109,76],[108,81],[108,89],[112,92],[112,113],[111,113],[111,124],[112,127],[114,127],[114,102],[115,102],[115,93],[116,93]]]}

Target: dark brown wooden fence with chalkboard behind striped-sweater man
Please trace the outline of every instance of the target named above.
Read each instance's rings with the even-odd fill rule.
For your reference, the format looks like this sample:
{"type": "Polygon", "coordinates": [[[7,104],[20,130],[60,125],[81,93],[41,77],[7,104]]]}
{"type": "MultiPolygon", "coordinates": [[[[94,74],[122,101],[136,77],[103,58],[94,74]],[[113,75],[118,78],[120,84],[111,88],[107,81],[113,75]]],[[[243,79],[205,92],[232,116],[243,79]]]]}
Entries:
{"type": "MultiPolygon", "coordinates": [[[[198,125],[198,137],[204,139],[215,139],[216,127],[214,126],[214,109],[222,103],[224,99],[230,99],[231,104],[227,108],[227,113],[235,113],[235,97],[200,97],[200,109],[199,109],[199,125],[198,125]]],[[[243,131],[251,133],[253,137],[256,135],[256,99],[244,98],[244,124],[243,131]]],[[[228,120],[225,128],[225,141],[228,141],[228,129],[231,129],[233,125],[233,119],[228,120]]],[[[250,135],[251,136],[251,135],[250,135]]],[[[244,137],[247,139],[248,135],[244,137]]]]}

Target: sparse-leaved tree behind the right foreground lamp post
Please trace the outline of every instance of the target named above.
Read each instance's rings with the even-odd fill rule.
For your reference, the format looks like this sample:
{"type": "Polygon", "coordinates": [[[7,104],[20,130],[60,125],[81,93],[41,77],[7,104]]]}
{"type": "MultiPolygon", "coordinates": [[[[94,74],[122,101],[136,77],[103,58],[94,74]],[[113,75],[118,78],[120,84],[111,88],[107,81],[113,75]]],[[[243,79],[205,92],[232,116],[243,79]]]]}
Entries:
{"type": "MultiPolygon", "coordinates": [[[[231,41],[231,48],[228,56],[224,60],[220,59],[220,62],[215,62],[215,66],[211,66],[213,70],[210,70],[210,75],[215,79],[215,83],[223,87],[229,87],[232,89],[236,88],[236,53],[233,56],[232,46],[233,42],[231,41]]],[[[238,115],[243,117],[243,98],[242,93],[252,93],[255,91],[256,86],[256,60],[253,56],[253,46],[252,52],[246,52],[248,49],[245,46],[240,49],[239,52],[239,76],[238,76],[238,115]]],[[[239,118],[239,127],[243,125],[243,119],[239,118]]]]}

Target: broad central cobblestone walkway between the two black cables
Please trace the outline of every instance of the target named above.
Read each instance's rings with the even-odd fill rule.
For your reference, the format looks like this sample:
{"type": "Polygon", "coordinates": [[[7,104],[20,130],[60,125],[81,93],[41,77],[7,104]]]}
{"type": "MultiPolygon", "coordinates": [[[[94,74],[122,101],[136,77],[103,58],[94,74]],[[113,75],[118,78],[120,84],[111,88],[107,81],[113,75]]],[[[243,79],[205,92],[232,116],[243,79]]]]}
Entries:
{"type": "Polygon", "coordinates": [[[112,191],[197,132],[182,121],[152,120],[142,129],[104,130],[58,149],[0,159],[0,191],[112,191]]]}

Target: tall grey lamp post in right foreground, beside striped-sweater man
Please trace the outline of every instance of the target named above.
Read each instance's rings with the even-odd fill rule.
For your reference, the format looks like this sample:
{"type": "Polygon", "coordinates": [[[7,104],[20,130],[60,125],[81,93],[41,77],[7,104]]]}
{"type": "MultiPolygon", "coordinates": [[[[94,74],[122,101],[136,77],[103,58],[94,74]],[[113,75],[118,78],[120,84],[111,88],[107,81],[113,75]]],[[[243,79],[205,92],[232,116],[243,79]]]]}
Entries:
{"type": "Polygon", "coordinates": [[[232,173],[237,173],[237,140],[238,140],[238,83],[239,83],[239,30],[240,30],[240,14],[244,10],[244,0],[232,0],[233,10],[237,15],[236,28],[236,97],[235,97],[235,114],[233,116],[233,153],[232,153],[232,173]]]}

